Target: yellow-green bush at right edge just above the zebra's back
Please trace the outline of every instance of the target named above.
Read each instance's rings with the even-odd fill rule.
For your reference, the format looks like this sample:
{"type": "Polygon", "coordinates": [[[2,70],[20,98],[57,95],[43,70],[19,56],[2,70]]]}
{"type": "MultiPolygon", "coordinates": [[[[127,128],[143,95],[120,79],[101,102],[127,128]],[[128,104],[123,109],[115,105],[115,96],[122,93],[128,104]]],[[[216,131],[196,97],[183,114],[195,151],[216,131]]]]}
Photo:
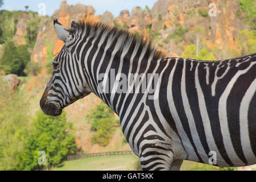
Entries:
{"type": "Polygon", "coordinates": [[[242,55],[249,55],[250,53],[256,52],[256,31],[242,30],[237,40],[242,55]]]}

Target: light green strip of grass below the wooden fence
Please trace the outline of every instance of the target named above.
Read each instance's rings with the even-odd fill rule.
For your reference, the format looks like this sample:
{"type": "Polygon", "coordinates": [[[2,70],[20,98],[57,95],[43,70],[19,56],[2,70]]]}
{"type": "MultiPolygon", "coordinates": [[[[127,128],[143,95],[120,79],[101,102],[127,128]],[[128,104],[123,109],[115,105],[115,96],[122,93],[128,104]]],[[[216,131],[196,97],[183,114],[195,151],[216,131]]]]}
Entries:
{"type": "Polygon", "coordinates": [[[136,155],[102,156],[98,158],[85,158],[66,161],[54,171],[100,171],[100,170],[135,170],[136,155]]]}

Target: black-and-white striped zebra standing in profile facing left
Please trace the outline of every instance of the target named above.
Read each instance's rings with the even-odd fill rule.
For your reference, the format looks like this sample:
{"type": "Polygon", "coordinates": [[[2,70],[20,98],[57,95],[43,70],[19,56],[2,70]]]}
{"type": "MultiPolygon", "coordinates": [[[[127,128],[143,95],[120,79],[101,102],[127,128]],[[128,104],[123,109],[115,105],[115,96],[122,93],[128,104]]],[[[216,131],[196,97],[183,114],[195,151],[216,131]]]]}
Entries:
{"type": "Polygon", "coordinates": [[[60,115],[96,94],[119,116],[143,170],[179,170],[183,160],[219,167],[256,163],[256,53],[218,61],[167,57],[149,40],[106,24],[80,20],[67,29],[54,18],[53,25],[65,44],[40,100],[44,113],[60,115]],[[110,77],[111,70],[115,83],[118,73],[142,74],[134,90],[143,80],[153,85],[143,74],[158,74],[156,97],[105,92],[99,75],[110,77]]]}

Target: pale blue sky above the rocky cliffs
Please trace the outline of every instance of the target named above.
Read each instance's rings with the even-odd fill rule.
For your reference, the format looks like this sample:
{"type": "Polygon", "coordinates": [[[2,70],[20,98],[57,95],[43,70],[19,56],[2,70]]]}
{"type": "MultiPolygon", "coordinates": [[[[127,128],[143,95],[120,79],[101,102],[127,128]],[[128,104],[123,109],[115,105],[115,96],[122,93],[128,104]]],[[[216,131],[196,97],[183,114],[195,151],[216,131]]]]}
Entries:
{"type": "MultiPolygon", "coordinates": [[[[46,5],[46,14],[52,16],[56,9],[59,9],[60,3],[63,0],[3,0],[4,4],[0,10],[25,10],[25,6],[29,6],[28,10],[38,12],[41,3],[46,5]]],[[[151,9],[157,0],[67,0],[69,5],[81,3],[83,5],[92,5],[96,10],[95,15],[102,15],[105,11],[110,11],[117,17],[121,10],[127,9],[130,11],[133,7],[140,6],[142,9],[146,5],[151,9]]]]}

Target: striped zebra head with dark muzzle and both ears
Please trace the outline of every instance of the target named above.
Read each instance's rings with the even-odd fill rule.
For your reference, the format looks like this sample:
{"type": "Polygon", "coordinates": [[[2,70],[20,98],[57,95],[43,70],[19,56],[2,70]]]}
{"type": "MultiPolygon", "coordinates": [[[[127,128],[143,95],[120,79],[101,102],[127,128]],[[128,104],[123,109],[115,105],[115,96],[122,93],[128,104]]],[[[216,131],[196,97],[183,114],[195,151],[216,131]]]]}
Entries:
{"type": "Polygon", "coordinates": [[[75,21],[67,30],[56,18],[53,20],[56,34],[65,44],[53,60],[53,73],[49,80],[40,107],[48,115],[60,115],[62,109],[90,93],[86,81],[81,78],[81,68],[74,49],[79,41],[79,24],[75,21]],[[72,53],[73,52],[73,53],[72,53]],[[79,78],[80,77],[80,78],[79,78]]]}

